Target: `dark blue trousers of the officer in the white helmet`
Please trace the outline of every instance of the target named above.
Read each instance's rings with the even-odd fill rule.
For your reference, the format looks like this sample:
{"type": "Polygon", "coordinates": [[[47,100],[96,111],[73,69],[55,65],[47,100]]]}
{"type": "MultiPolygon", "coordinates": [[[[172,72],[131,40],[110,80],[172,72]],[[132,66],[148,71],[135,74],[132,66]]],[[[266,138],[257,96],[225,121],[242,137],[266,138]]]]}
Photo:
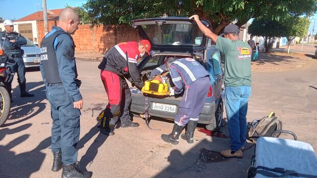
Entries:
{"type": "Polygon", "coordinates": [[[13,73],[17,72],[17,82],[19,84],[26,83],[26,67],[24,65],[24,61],[22,57],[18,58],[9,58],[7,61],[7,72],[8,72],[8,79],[7,84],[11,85],[13,81],[13,73]]]}

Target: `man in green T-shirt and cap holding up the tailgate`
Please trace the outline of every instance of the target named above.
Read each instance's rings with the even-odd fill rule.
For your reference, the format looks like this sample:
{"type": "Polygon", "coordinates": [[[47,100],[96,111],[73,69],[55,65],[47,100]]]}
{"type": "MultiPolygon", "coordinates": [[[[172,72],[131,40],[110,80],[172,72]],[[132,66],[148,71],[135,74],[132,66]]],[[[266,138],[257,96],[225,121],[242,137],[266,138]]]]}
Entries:
{"type": "Polygon", "coordinates": [[[195,20],[200,31],[216,42],[216,48],[225,55],[225,110],[231,146],[230,149],[222,150],[221,155],[242,157],[246,139],[247,101],[251,95],[252,49],[239,39],[239,27],[234,24],[229,24],[223,34],[218,36],[201,23],[198,15],[189,18],[195,20]]]}

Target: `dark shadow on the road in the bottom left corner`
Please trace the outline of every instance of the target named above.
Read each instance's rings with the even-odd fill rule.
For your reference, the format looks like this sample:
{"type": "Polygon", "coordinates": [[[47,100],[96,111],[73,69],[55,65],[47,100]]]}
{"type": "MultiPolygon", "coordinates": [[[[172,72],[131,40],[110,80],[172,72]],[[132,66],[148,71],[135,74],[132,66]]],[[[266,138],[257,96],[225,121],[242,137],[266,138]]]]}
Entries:
{"type": "MultiPolygon", "coordinates": [[[[29,128],[31,124],[25,124],[15,129],[0,130],[0,139],[4,138],[6,134],[14,134],[29,128]]],[[[43,163],[45,154],[41,150],[46,149],[51,144],[51,137],[43,140],[36,148],[31,151],[23,152],[16,155],[10,149],[26,141],[30,135],[22,135],[9,142],[7,145],[0,145],[0,177],[6,178],[27,178],[32,173],[38,171],[43,163]]]]}

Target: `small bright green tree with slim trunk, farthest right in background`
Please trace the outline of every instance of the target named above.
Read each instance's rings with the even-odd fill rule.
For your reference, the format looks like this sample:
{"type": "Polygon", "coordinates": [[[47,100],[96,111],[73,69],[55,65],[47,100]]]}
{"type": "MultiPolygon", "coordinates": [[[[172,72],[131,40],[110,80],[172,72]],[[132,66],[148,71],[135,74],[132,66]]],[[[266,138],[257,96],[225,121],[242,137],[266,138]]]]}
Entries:
{"type": "Polygon", "coordinates": [[[287,38],[287,53],[290,50],[290,42],[296,37],[305,37],[308,33],[309,18],[307,17],[286,17],[283,24],[286,27],[285,36],[287,38]]]}

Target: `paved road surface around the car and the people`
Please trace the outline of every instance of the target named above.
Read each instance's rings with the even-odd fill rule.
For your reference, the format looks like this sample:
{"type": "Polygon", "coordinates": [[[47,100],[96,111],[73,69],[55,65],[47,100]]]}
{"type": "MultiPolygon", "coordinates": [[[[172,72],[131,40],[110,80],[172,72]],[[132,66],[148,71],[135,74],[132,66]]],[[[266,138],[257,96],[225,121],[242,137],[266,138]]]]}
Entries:
{"type": "MultiPolygon", "coordinates": [[[[141,123],[139,128],[119,128],[112,137],[100,135],[95,118],[107,99],[98,62],[77,61],[77,65],[84,97],[78,160],[82,169],[94,172],[93,177],[246,177],[253,148],[244,152],[243,159],[205,164],[201,172],[194,172],[191,168],[197,167],[201,148],[220,151],[229,147],[229,139],[196,131],[194,144],[183,140],[179,145],[167,144],[160,135],[171,131],[172,123],[168,121],[153,120],[152,126],[162,131],[150,131],[143,119],[134,118],[141,123]]],[[[275,111],[282,118],[284,129],[295,132],[299,140],[317,150],[316,67],[317,61],[312,60],[304,68],[291,71],[254,71],[248,121],[275,111]]],[[[28,89],[36,97],[19,98],[14,81],[10,120],[0,128],[0,177],[59,177],[61,171],[50,170],[52,121],[40,72],[31,70],[26,78],[28,89]]]]}

